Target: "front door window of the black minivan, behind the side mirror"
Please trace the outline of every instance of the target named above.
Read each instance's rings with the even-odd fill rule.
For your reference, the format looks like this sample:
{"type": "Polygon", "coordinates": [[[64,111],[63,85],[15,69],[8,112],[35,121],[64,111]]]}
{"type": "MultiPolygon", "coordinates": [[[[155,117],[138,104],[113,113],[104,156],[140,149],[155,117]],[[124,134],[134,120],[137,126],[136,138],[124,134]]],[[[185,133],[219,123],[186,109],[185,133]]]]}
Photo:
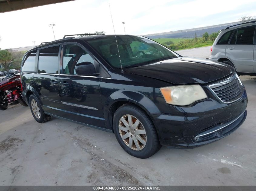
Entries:
{"type": "Polygon", "coordinates": [[[94,59],[80,46],[65,45],[63,49],[63,73],[76,75],[75,66],[81,62],[94,63],[94,59]]]}

